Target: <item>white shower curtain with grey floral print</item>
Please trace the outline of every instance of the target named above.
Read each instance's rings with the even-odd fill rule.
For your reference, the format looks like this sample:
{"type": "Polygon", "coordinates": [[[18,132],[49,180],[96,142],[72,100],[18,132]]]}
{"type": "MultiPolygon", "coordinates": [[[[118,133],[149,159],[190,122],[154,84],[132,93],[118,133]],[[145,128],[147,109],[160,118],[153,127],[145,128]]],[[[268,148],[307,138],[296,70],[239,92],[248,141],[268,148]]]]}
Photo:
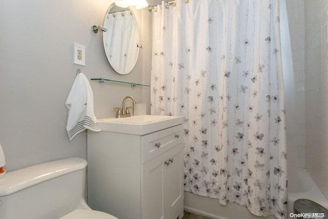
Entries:
{"type": "Polygon", "coordinates": [[[151,111],[185,117],[185,191],[287,213],[278,0],[177,0],[153,23],[151,111]]]}

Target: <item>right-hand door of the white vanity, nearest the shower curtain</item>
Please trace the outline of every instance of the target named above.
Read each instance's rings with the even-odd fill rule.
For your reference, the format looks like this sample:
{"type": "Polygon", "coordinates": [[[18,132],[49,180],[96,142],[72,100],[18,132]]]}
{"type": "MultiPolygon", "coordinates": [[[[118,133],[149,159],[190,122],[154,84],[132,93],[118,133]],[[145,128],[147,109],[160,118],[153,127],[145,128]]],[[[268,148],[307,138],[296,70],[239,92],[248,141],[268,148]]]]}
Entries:
{"type": "Polygon", "coordinates": [[[183,148],[182,144],[168,154],[169,165],[164,168],[164,212],[166,218],[179,207],[183,201],[183,148]]]}

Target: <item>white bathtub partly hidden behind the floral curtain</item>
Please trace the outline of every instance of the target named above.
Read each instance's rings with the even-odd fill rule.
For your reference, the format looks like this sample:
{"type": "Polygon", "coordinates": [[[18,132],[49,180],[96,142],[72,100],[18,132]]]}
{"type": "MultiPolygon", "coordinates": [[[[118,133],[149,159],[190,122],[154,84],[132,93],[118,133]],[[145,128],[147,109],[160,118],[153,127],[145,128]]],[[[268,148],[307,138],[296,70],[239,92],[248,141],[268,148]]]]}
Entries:
{"type": "MultiPolygon", "coordinates": [[[[294,212],[293,204],[298,198],[307,198],[313,200],[328,209],[328,201],[321,193],[318,186],[312,180],[308,171],[303,168],[297,170],[298,185],[290,186],[288,192],[288,218],[290,213],[294,212]]],[[[207,216],[214,219],[254,219],[266,218],[275,219],[274,216],[258,217],[249,212],[243,206],[228,203],[226,206],[219,205],[216,198],[210,198],[185,192],[184,207],[186,211],[207,216]]]]}

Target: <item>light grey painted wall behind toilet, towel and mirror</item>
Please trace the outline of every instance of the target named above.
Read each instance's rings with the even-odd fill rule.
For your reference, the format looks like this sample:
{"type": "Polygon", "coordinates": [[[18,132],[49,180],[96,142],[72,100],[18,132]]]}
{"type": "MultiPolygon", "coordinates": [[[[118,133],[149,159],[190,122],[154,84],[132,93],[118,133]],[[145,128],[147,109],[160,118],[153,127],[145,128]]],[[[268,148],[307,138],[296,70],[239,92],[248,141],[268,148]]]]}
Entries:
{"type": "MultiPolygon", "coordinates": [[[[0,2],[0,143],[8,171],[58,158],[86,158],[86,133],[80,133],[72,142],[66,133],[65,101],[78,68],[88,78],[147,80],[143,75],[150,73],[150,65],[147,65],[150,61],[142,56],[149,51],[151,42],[147,41],[151,41],[151,37],[143,42],[145,34],[142,34],[144,48],[137,66],[132,73],[119,75],[107,62],[101,33],[94,34],[90,30],[91,25],[103,24],[112,2],[0,2]],[[87,47],[86,66],[73,64],[73,43],[87,47]]],[[[149,32],[145,26],[150,25],[148,10],[139,10],[136,15],[140,28],[149,32]]],[[[133,95],[139,103],[149,102],[148,88],[90,84],[98,118],[114,116],[113,107],[120,106],[126,95],[133,95]]]]}

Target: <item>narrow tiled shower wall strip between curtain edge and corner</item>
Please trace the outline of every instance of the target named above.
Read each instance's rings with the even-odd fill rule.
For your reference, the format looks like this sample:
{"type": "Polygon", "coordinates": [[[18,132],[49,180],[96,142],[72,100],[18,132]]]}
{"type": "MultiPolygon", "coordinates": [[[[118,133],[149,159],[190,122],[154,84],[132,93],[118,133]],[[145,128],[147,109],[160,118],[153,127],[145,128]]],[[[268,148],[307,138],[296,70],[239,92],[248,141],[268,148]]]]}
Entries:
{"type": "MultiPolygon", "coordinates": [[[[298,167],[305,167],[304,1],[287,0],[295,86],[295,144],[298,167]]],[[[296,161],[295,161],[296,162],[296,161]]]]}

